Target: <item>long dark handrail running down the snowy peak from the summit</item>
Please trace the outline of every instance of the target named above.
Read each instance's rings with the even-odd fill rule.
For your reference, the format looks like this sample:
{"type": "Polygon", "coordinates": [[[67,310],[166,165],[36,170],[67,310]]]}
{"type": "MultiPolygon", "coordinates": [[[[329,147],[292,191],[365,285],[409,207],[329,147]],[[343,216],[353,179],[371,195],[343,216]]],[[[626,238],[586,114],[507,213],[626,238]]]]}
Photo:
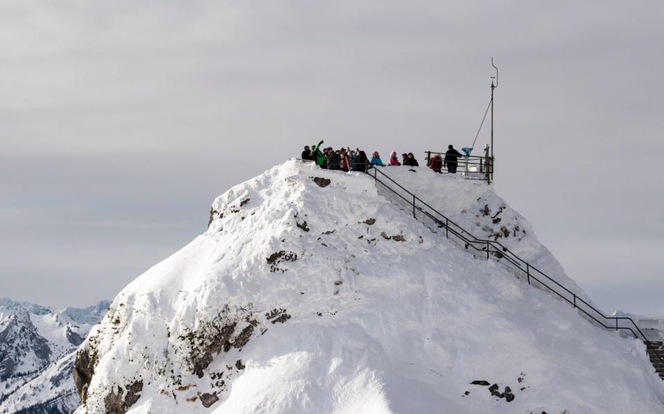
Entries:
{"type": "MultiPolygon", "coordinates": [[[[448,235],[447,237],[449,237],[449,233],[451,233],[452,235],[455,235],[460,240],[462,240],[463,242],[466,243],[466,246],[465,246],[466,249],[468,249],[468,247],[472,247],[473,249],[475,249],[475,251],[485,252],[486,255],[487,255],[487,259],[490,258],[490,255],[492,253],[494,254],[494,257],[497,258],[497,260],[499,260],[499,261],[500,261],[501,258],[505,258],[514,267],[516,267],[517,269],[519,269],[523,273],[526,273],[529,285],[530,285],[530,279],[535,280],[536,282],[539,283],[539,285],[542,285],[542,286],[546,287],[547,289],[549,289],[550,291],[552,291],[553,293],[557,294],[558,296],[563,298],[567,303],[569,303],[570,305],[573,305],[575,309],[579,309],[581,312],[586,314],[586,316],[589,316],[589,318],[591,318],[593,321],[595,321],[595,323],[598,323],[600,326],[604,327],[605,329],[628,330],[629,332],[631,332],[631,334],[635,338],[641,339],[645,343],[646,349],[656,350],[654,345],[652,345],[652,343],[646,338],[645,334],[643,334],[643,332],[640,330],[638,325],[636,325],[636,322],[634,322],[634,320],[632,318],[630,318],[629,316],[606,316],[606,315],[604,315],[599,309],[596,309],[595,307],[593,307],[593,305],[586,302],[586,300],[584,300],[583,298],[580,298],[579,296],[577,296],[577,294],[575,294],[573,291],[571,291],[570,289],[564,287],[563,285],[561,285],[559,282],[557,282],[553,278],[550,278],[550,276],[548,276],[546,273],[544,273],[543,271],[537,269],[537,267],[532,266],[532,264],[530,264],[526,260],[523,260],[522,258],[520,258],[519,255],[517,255],[516,253],[510,251],[510,249],[508,249],[508,247],[501,244],[501,242],[498,242],[496,240],[480,239],[480,238],[476,237],[475,235],[473,235],[472,233],[467,231],[465,228],[461,227],[459,224],[456,224],[456,222],[449,219],[449,217],[447,217],[446,215],[440,213],[438,210],[436,210],[436,208],[431,207],[425,201],[420,199],[420,197],[414,195],[412,192],[410,192],[409,190],[404,188],[404,186],[402,186],[400,183],[397,183],[397,181],[395,181],[394,179],[389,177],[387,174],[385,174],[384,172],[382,172],[378,168],[370,167],[370,170],[372,170],[372,169],[374,171],[373,174],[370,174],[370,172],[368,172],[368,171],[366,173],[368,175],[370,175],[371,177],[373,177],[373,179],[375,181],[381,183],[383,186],[388,188],[388,190],[391,190],[392,192],[394,192],[395,195],[401,197],[402,199],[404,199],[404,201],[411,204],[411,206],[413,206],[413,216],[415,218],[417,218],[416,217],[417,215],[415,214],[416,211],[419,211],[424,216],[430,217],[434,222],[436,222],[436,224],[438,225],[439,228],[445,228],[446,235],[448,235]],[[399,192],[395,191],[393,188],[391,188],[391,186],[389,186],[387,183],[382,181],[382,179],[379,179],[377,177],[378,173],[380,173],[382,177],[385,177],[386,179],[391,181],[391,183],[393,183],[395,186],[397,186],[398,188],[400,188],[401,190],[406,192],[409,196],[411,196],[412,201],[410,199],[406,199],[406,197],[401,195],[399,192]],[[438,215],[439,217],[444,219],[445,223],[443,223],[440,219],[437,219],[436,217],[433,217],[433,215],[431,215],[431,213],[425,211],[421,206],[418,206],[417,202],[419,202],[421,206],[426,206],[427,208],[429,208],[429,210],[431,210],[432,213],[435,213],[436,215],[438,215]],[[451,228],[450,225],[454,226],[454,228],[451,228]],[[470,237],[466,237],[465,235],[469,235],[470,237]],[[479,245],[485,246],[485,247],[483,247],[482,249],[478,249],[476,244],[479,244],[479,245]],[[490,246],[494,247],[495,250],[491,251],[490,246]],[[521,262],[521,264],[526,265],[526,269],[523,269],[523,267],[521,265],[519,265],[519,262],[521,262]],[[560,287],[561,289],[566,291],[568,294],[570,294],[573,299],[570,300],[570,299],[566,298],[559,291],[556,291],[552,287],[546,285],[545,282],[543,282],[542,280],[537,278],[535,275],[530,273],[531,270],[539,273],[539,275],[541,275],[541,276],[544,276],[544,278],[546,278],[550,282],[553,282],[557,287],[560,287]],[[583,309],[582,307],[580,307],[580,304],[585,305],[586,307],[591,309],[593,312],[595,312],[595,314],[600,316],[600,318],[602,318],[606,321],[614,321],[615,326],[607,325],[604,322],[600,321],[600,319],[595,318],[595,316],[591,315],[589,312],[586,312],[586,309],[583,309]],[[629,321],[631,323],[631,325],[634,327],[634,329],[636,329],[636,332],[629,326],[628,327],[618,326],[618,321],[629,321]],[[640,334],[640,337],[637,333],[640,334]]],[[[654,352],[653,354],[657,355],[658,359],[661,359],[662,361],[664,361],[664,356],[662,356],[659,352],[654,352]]]]}

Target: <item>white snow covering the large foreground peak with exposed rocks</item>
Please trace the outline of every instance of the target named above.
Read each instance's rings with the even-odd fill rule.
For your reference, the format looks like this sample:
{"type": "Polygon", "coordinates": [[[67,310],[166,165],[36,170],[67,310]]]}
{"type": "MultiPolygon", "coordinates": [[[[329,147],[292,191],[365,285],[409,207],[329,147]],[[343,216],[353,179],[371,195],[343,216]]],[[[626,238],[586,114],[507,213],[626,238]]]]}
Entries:
{"type": "MultiPolygon", "coordinates": [[[[486,183],[413,170],[386,172],[577,289],[486,183]]],[[[300,161],[217,198],[205,233],[118,294],[77,367],[78,414],[664,412],[642,342],[431,233],[366,174],[300,161]]]]}

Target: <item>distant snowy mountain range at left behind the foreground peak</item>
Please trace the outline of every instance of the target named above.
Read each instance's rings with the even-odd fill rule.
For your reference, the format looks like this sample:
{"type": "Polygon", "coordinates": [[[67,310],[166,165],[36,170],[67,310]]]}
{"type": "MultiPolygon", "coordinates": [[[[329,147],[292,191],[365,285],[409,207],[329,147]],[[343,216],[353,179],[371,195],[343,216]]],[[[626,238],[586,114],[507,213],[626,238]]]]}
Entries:
{"type": "Polygon", "coordinates": [[[54,309],[0,298],[0,413],[71,413],[75,350],[109,302],[54,309]]]}

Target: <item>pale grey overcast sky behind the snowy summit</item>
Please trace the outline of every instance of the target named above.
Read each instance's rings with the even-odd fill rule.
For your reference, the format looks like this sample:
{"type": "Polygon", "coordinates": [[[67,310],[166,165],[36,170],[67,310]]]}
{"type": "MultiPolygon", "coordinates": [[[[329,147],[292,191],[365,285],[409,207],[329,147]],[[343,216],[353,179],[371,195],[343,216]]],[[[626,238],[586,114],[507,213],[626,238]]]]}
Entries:
{"type": "Polygon", "coordinates": [[[89,305],[305,144],[469,146],[607,311],[664,316],[658,1],[2,1],[0,296],[89,305]],[[476,147],[488,140],[488,129],[476,147]]]}

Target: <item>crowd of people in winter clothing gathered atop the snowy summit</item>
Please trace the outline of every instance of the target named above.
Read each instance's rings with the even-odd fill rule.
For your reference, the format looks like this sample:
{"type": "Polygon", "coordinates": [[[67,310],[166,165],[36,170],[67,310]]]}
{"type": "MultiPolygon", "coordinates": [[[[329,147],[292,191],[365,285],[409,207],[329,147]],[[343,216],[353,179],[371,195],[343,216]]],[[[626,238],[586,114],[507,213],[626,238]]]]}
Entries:
{"type": "MultiPolygon", "coordinates": [[[[375,151],[373,152],[371,159],[368,158],[366,152],[356,148],[351,150],[348,148],[341,148],[340,150],[334,150],[332,147],[326,147],[321,149],[324,141],[319,142],[317,145],[305,146],[305,149],[302,152],[302,159],[308,161],[314,161],[316,165],[327,170],[341,170],[341,171],[364,171],[366,172],[369,168],[374,165],[379,167],[386,166],[398,166],[406,165],[410,167],[419,167],[420,164],[418,160],[415,159],[415,156],[412,152],[401,154],[401,160],[397,157],[397,152],[393,151],[390,154],[388,163],[385,164],[380,158],[380,154],[375,151]]],[[[443,161],[440,155],[433,156],[429,160],[429,168],[434,172],[442,172],[441,169],[447,167],[448,172],[456,173],[456,167],[458,159],[461,157],[461,154],[454,150],[454,148],[449,145],[449,150],[445,153],[445,160],[443,161]]]]}

